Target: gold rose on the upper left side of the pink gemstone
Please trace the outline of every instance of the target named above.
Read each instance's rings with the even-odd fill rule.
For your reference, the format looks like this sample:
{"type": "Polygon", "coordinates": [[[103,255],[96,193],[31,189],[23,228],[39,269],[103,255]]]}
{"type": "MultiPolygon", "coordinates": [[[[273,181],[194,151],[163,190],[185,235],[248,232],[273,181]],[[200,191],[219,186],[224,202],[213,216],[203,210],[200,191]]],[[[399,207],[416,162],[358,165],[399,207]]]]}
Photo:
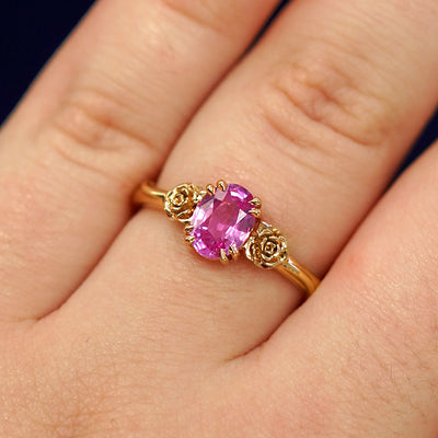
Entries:
{"type": "Polygon", "coordinates": [[[200,191],[193,184],[181,184],[165,195],[164,210],[173,219],[186,222],[200,200],[200,191]]]}

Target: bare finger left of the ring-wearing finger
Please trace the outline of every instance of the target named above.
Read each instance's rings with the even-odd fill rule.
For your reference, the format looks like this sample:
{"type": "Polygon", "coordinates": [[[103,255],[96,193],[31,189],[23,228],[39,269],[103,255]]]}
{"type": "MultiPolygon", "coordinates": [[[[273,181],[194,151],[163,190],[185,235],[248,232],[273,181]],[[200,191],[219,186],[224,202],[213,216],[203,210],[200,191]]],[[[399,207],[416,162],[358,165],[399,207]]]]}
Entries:
{"type": "Polygon", "coordinates": [[[1,134],[3,318],[39,318],[83,280],[275,3],[94,8],[1,134]]]}

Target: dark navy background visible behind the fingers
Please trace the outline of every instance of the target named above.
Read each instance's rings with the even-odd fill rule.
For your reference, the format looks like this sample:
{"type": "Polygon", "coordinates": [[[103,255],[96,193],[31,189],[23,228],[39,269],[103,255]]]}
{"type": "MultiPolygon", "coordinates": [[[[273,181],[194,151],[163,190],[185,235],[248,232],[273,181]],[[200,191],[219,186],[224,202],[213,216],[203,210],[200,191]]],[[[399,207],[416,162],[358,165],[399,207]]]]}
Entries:
{"type": "MultiPolygon", "coordinates": [[[[8,5],[4,3],[0,15],[0,124],[92,1],[15,0],[8,5]]],[[[419,137],[407,162],[436,138],[438,112],[419,137]]]]}

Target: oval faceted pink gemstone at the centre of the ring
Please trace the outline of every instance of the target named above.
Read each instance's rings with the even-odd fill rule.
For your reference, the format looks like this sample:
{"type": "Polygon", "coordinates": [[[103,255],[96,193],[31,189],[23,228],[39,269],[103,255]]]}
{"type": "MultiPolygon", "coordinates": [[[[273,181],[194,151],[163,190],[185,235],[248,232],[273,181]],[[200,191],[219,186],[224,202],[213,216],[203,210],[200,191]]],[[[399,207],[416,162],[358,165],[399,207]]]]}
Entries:
{"type": "Polygon", "coordinates": [[[227,255],[231,245],[240,249],[255,224],[254,216],[249,212],[254,208],[250,204],[252,198],[238,184],[229,184],[224,192],[218,188],[215,196],[205,195],[191,219],[196,252],[207,258],[219,258],[221,249],[227,255]]]}

